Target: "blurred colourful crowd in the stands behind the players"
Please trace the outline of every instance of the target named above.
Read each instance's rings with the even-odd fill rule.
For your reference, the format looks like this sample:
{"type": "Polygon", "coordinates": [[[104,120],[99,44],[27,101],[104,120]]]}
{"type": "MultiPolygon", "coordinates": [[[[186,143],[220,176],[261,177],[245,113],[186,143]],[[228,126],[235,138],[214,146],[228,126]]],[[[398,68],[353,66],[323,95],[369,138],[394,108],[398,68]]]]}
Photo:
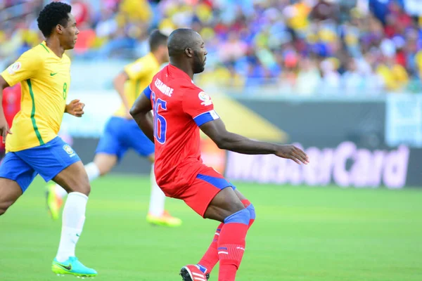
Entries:
{"type": "MultiPolygon", "coordinates": [[[[0,59],[38,44],[37,14],[49,1],[2,0],[0,59]]],[[[148,32],[199,32],[205,86],[295,95],[421,91],[419,0],[71,0],[81,33],[77,60],[135,59],[148,32]]],[[[420,16],[421,15],[421,16],[420,16]]],[[[260,94],[260,92],[254,92],[260,94]]]]}

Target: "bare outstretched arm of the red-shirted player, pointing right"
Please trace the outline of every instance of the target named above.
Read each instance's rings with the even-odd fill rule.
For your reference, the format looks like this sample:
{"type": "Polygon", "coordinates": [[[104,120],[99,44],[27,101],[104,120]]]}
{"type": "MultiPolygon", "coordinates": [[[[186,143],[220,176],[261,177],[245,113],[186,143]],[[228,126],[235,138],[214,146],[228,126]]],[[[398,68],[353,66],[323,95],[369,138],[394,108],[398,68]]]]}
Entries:
{"type": "Polygon", "coordinates": [[[309,163],[305,152],[294,145],[276,145],[262,141],[252,141],[249,138],[230,133],[222,119],[215,119],[200,126],[200,129],[217,144],[220,149],[230,150],[242,154],[274,154],[276,156],[292,159],[300,164],[309,163]]]}

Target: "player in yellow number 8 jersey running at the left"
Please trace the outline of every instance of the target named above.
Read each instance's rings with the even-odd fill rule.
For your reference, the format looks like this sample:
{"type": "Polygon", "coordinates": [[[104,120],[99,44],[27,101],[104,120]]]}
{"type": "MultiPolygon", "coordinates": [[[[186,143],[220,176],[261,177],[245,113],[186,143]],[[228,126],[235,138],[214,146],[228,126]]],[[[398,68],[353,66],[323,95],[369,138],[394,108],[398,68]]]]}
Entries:
{"type": "Polygon", "coordinates": [[[63,209],[60,244],[52,270],[57,274],[96,276],[75,257],[75,246],[85,221],[91,190],[87,172],[70,145],[57,136],[63,114],[84,114],[84,104],[72,100],[66,105],[70,87],[70,59],[65,50],[75,46],[75,18],[68,4],[53,2],[37,19],[46,40],[18,60],[0,76],[0,102],[3,89],[20,82],[21,109],[11,129],[0,107],[0,133],[6,139],[6,156],[0,166],[0,215],[23,195],[37,174],[53,180],[69,192],[63,209]]]}

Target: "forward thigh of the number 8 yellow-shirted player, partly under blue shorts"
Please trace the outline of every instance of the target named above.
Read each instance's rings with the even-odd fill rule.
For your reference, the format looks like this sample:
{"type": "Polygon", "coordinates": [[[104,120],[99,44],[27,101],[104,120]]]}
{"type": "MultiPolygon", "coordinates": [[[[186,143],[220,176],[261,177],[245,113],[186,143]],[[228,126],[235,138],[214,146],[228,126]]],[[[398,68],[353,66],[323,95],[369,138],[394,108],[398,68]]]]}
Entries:
{"type": "Polygon", "coordinates": [[[77,153],[61,138],[56,137],[44,145],[15,152],[28,165],[44,178],[44,181],[56,181],[68,192],[89,193],[87,172],[77,153]],[[62,176],[59,176],[62,175],[62,176]],[[72,179],[63,181],[63,175],[72,179]],[[70,184],[77,181],[77,185],[70,184]],[[62,184],[63,183],[63,184],[62,184]]]}

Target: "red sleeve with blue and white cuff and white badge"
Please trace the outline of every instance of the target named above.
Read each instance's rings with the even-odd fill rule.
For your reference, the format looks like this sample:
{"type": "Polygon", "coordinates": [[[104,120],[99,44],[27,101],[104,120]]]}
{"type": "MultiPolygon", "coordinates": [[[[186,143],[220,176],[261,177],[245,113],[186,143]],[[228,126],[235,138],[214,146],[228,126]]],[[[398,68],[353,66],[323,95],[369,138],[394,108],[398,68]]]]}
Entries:
{"type": "Polygon", "coordinates": [[[192,117],[198,126],[219,119],[211,97],[201,89],[189,89],[182,100],[183,111],[192,117]]]}

